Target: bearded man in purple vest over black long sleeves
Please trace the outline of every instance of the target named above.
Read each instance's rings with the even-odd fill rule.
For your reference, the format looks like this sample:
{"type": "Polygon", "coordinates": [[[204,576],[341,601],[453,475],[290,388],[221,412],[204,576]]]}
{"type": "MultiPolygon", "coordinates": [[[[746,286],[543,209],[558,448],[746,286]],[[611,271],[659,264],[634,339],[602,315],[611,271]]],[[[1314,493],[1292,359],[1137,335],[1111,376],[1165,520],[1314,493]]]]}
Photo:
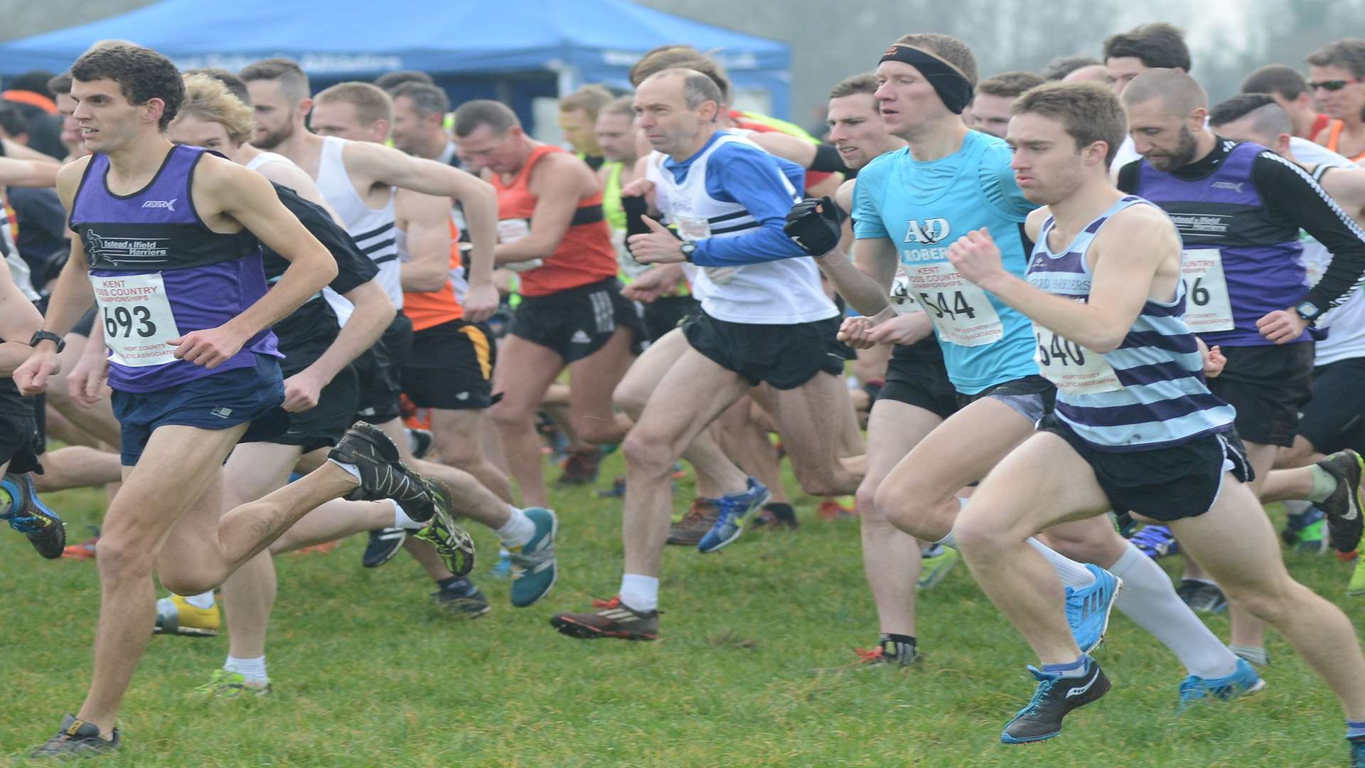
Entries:
{"type": "MultiPolygon", "coordinates": [[[[1264,478],[1276,447],[1290,447],[1298,409],[1312,395],[1313,342],[1308,327],[1360,284],[1365,272],[1362,231],[1327,193],[1291,161],[1256,143],[1235,143],[1205,127],[1208,96],[1175,70],[1148,70],[1123,90],[1129,135],[1144,160],[1118,171],[1118,189],[1166,210],[1185,242],[1188,323],[1227,358],[1208,388],[1237,409],[1237,432],[1264,478]],[[1312,288],[1304,288],[1299,231],[1334,254],[1312,288]]],[[[1338,486],[1355,486],[1360,459],[1338,454],[1317,465],[1312,502],[1338,486]]],[[[1261,482],[1249,478],[1253,492],[1261,482]]],[[[1338,495],[1339,496],[1339,495],[1338,495]]],[[[1338,510],[1339,512],[1347,510],[1338,510]]],[[[1328,525],[1339,529],[1343,519],[1328,525]]],[[[1360,540],[1338,530],[1336,547],[1360,540]]],[[[1182,596],[1211,609],[1222,594],[1197,566],[1186,563],[1182,596]]],[[[1237,607],[1234,605],[1234,609],[1237,607]]],[[[1233,616],[1234,650],[1264,663],[1264,630],[1250,616],[1233,616]]]]}

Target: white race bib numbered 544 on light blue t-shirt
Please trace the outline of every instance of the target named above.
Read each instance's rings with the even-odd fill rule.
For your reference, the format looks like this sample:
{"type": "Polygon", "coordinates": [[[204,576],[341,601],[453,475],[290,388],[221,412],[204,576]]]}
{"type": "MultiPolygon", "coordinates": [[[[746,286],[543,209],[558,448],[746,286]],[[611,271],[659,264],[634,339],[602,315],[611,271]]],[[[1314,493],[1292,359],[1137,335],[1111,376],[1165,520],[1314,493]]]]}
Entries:
{"type": "Polygon", "coordinates": [[[906,265],[905,276],[942,340],[980,347],[1005,338],[1005,325],[986,291],[964,279],[951,264],[906,265]]]}

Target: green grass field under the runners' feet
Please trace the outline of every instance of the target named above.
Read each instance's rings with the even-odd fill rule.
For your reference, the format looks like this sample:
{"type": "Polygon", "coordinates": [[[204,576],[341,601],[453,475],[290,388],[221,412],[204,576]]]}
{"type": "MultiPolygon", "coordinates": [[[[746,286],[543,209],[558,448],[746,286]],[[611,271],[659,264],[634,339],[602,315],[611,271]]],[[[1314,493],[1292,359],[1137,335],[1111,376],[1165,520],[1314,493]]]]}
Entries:
{"type": "MultiPolygon", "coordinates": [[[[612,456],[603,484],[620,470],[612,456]]],[[[680,485],[678,503],[688,496],[680,485]]],[[[72,541],[102,493],[52,495],[72,541]]],[[[876,640],[856,519],[822,521],[797,497],[797,532],[751,532],[702,556],[669,548],[663,638],[577,641],[547,618],[586,609],[620,579],[620,502],[561,491],[560,582],[526,609],[486,575],[493,612],[453,619],[407,556],[363,570],[362,538],[330,555],[278,559],[268,659],[274,691],[253,701],[190,696],[222,663],[225,638],[156,638],[124,701],[124,748],[101,765],[1345,765],[1335,698],[1272,635],[1269,687],[1178,716],[1183,670],[1115,614],[1097,653],[1114,682],[1061,738],[1003,746],[1032,693],[1022,640],[960,567],[920,600],[919,668],[856,668],[876,640]]],[[[75,711],[98,608],[91,562],[38,559],[0,533],[0,754],[19,754],[75,711]]],[[[1290,555],[1291,571],[1339,603],[1347,564],[1290,555]]],[[[1222,616],[1211,619],[1227,634],[1222,616]]]]}

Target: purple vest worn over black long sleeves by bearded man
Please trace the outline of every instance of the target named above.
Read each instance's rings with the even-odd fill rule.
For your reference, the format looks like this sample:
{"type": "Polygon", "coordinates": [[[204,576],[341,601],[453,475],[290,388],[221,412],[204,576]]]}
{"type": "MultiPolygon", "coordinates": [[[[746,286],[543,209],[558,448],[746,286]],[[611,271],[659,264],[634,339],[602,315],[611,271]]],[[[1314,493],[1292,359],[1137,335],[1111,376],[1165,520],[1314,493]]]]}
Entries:
{"type": "MultiPolygon", "coordinates": [[[[1216,247],[1222,254],[1234,328],[1201,333],[1209,346],[1271,344],[1256,321],[1294,306],[1308,292],[1298,227],[1272,215],[1252,180],[1252,164],[1263,152],[1268,150],[1259,143],[1238,143],[1203,179],[1179,179],[1147,160],[1137,174],[1133,193],[1166,210],[1186,249],[1216,247]]],[[[1308,340],[1308,332],[1295,339],[1308,340]]]]}

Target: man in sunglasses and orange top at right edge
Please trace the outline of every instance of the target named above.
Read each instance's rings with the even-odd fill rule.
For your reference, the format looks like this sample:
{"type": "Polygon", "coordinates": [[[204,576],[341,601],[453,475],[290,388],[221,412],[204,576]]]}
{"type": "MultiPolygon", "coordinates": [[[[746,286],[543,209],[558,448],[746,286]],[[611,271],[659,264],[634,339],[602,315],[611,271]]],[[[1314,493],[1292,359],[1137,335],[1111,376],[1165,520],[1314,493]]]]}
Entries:
{"type": "Polygon", "coordinates": [[[1309,92],[1331,124],[1313,141],[1365,161],[1365,40],[1338,40],[1308,57],[1309,92]]]}

